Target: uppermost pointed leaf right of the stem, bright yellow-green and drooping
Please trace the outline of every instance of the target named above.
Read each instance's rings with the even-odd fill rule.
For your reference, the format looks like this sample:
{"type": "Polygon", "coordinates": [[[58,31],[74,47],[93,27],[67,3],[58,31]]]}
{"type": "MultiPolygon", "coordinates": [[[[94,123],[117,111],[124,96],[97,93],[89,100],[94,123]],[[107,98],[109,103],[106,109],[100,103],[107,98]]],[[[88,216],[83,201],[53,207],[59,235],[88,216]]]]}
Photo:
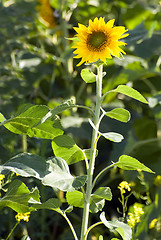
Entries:
{"type": "Polygon", "coordinates": [[[127,95],[128,97],[148,104],[147,100],[137,90],[126,85],[119,85],[116,89],[112,90],[112,92],[122,93],[127,95]]]}

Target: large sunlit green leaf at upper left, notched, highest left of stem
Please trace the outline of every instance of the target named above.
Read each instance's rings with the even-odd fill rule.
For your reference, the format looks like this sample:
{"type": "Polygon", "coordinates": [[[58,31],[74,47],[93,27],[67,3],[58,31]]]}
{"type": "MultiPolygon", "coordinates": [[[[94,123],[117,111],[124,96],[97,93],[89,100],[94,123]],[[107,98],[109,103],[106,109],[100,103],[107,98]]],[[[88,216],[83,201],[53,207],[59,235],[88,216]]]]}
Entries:
{"type": "Polygon", "coordinates": [[[20,115],[3,122],[3,125],[11,132],[26,134],[29,137],[53,139],[63,134],[62,126],[58,118],[50,119],[42,124],[41,119],[49,112],[46,106],[35,105],[28,108],[20,115]]]}

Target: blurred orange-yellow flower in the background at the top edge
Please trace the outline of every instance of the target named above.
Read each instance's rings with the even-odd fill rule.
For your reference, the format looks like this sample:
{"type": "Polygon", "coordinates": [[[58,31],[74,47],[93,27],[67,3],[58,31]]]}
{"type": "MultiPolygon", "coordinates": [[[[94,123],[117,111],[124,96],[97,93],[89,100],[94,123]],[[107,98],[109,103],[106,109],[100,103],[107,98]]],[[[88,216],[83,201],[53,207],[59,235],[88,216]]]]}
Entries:
{"type": "Polygon", "coordinates": [[[50,5],[49,0],[38,0],[40,2],[37,10],[39,12],[40,21],[46,26],[50,28],[56,27],[56,20],[54,17],[54,11],[50,5]]]}

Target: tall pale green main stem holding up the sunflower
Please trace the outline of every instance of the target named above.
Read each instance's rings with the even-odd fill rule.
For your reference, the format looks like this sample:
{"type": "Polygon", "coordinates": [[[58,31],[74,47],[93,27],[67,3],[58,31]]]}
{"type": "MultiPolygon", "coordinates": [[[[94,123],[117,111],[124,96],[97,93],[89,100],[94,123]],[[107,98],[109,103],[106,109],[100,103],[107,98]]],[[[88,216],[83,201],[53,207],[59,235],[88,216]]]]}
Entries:
{"type": "Polygon", "coordinates": [[[94,115],[94,125],[92,133],[92,142],[91,142],[91,154],[89,161],[89,169],[87,171],[87,188],[84,199],[84,209],[83,209],[83,220],[82,220],[82,229],[81,229],[81,238],[80,240],[86,240],[86,231],[88,228],[88,219],[89,219],[89,207],[90,207],[90,197],[92,193],[92,181],[94,174],[95,158],[96,158],[96,149],[97,149],[97,137],[99,132],[99,117],[100,109],[102,103],[102,71],[103,65],[97,67],[97,79],[96,79],[96,107],[94,115]]]}

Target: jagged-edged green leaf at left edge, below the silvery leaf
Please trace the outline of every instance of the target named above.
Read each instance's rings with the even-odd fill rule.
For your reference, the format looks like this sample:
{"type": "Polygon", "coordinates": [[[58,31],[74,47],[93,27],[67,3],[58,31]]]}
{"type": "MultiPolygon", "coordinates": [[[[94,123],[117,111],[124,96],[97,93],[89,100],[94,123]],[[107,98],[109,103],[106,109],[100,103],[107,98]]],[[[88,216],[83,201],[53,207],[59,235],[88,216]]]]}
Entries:
{"type": "Polygon", "coordinates": [[[39,202],[40,196],[37,188],[31,192],[20,180],[14,180],[8,188],[7,193],[0,199],[0,208],[9,207],[16,212],[25,213],[34,210],[29,203],[39,202]]]}

